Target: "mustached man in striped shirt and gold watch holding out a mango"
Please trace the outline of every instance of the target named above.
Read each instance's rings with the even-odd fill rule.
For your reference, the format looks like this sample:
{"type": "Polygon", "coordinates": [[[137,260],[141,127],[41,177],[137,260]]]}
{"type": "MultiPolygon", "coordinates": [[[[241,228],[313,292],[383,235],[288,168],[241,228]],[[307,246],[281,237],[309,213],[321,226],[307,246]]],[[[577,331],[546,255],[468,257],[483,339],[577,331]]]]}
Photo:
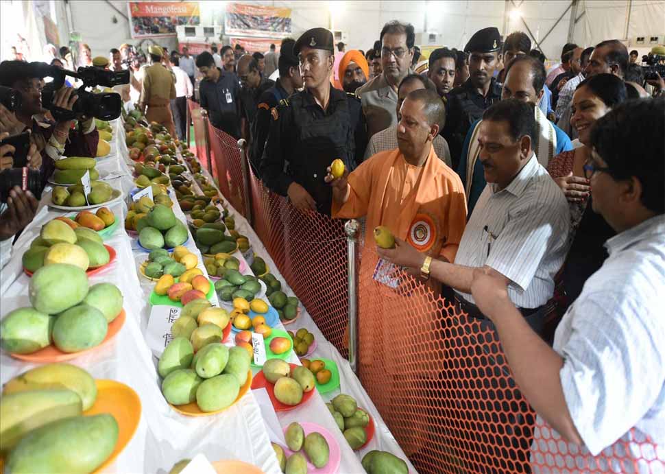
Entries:
{"type": "Polygon", "coordinates": [[[568,250],[570,216],[564,195],[533,152],[533,108],[507,99],[485,110],[478,141],[488,184],[464,230],[455,263],[428,260],[398,239],[396,248],[378,253],[455,289],[462,311],[483,324],[488,321],[474,305],[471,282],[474,272],[487,269],[505,281],[511,301],[540,332],[544,305],[568,250]]]}

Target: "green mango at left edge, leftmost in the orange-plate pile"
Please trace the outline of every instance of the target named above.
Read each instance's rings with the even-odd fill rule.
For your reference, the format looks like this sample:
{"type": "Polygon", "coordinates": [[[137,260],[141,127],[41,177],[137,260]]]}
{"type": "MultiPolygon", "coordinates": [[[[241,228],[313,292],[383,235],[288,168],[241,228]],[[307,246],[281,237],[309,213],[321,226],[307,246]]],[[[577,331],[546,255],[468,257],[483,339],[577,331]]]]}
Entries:
{"type": "Polygon", "coordinates": [[[14,309],[0,321],[0,347],[30,354],[51,344],[54,318],[31,307],[14,309]]]}

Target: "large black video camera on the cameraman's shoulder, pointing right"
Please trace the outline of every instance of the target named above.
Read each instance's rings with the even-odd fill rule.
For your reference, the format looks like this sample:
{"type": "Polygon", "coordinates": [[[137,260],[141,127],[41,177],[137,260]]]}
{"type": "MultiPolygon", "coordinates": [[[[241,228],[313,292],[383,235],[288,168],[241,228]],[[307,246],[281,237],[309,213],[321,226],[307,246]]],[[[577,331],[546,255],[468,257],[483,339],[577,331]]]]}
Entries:
{"type": "Polygon", "coordinates": [[[86,87],[113,87],[120,84],[129,84],[130,71],[107,71],[97,67],[79,67],[76,72],[49,66],[45,62],[32,62],[35,78],[53,78],[42,89],[42,104],[51,110],[56,121],[73,120],[82,115],[95,117],[100,120],[114,120],[120,117],[123,102],[120,94],[114,92],[92,93],[86,87]],[[64,84],[66,76],[81,80],[82,86],[75,91],[78,96],[73,110],[65,110],[53,105],[56,91],[64,84]]]}

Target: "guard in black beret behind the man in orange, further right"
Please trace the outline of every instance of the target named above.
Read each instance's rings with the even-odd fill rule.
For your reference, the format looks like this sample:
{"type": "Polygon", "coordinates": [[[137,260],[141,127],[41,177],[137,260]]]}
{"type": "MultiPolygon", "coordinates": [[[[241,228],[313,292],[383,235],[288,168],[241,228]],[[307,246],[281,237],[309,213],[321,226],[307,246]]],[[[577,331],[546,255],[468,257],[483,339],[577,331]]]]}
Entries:
{"type": "Polygon", "coordinates": [[[469,55],[469,78],[448,95],[443,137],[450,146],[452,169],[457,169],[462,143],[471,124],[500,101],[501,87],[494,79],[501,60],[501,36],[495,27],[479,29],[464,48],[469,55]]]}

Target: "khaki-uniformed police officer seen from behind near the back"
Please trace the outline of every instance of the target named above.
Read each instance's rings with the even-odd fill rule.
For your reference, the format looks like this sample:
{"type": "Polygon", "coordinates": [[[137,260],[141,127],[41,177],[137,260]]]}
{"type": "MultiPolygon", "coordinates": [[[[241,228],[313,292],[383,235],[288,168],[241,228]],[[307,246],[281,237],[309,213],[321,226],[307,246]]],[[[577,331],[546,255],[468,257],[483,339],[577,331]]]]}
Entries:
{"type": "Polygon", "coordinates": [[[165,126],[172,137],[176,137],[176,126],[171,115],[171,99],[176,98],[176,80],[173,73],[162,65],[164,50],[152,45],[148,48],[152,64],[143,71],[141,96],[138,110],[145,112],[145,118],[165,126]],[[147,110],[145,108],[147,107],[147,110]]]}

